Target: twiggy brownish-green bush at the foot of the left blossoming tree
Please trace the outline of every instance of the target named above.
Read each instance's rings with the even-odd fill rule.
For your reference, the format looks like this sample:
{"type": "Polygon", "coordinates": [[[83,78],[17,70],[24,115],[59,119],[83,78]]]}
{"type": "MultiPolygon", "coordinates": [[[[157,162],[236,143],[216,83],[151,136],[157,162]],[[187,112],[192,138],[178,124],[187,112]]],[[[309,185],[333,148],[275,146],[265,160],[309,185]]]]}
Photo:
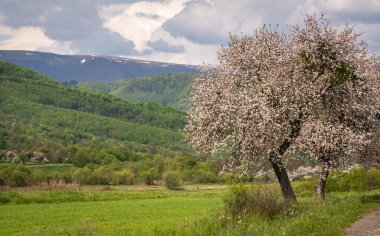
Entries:
{"type": "Polygon", "coordinates": [[[288,207],[288,203],[280,199],[280,195],[274,190],[241,183],[231,186],[223,200],[228,216],[254,214],[272,218],[288,207]]]}

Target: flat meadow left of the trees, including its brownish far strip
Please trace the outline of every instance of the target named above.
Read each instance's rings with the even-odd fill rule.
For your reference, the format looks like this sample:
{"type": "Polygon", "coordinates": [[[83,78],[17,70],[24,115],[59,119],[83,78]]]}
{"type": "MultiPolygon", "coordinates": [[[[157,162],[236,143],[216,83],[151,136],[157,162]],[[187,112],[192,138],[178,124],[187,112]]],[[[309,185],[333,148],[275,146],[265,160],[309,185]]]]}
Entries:
{"type": "Polygon", "coordinates": [[[0,235],[128,235],[175,230],[222,206],[225,186],[86,186],[0,192],[0,235]]]}

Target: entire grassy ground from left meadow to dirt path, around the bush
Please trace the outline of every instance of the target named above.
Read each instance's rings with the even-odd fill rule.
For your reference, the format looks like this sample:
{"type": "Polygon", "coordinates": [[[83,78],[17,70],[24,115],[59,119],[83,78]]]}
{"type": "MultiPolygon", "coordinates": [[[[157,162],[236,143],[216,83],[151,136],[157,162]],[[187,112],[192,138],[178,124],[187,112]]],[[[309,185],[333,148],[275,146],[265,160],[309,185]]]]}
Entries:
{"type": "Polygon", "coordinates": [[[380,206],[380,190],[329,193],[325,202],[301,197],[272,219],[226,219],[226,191],[225,185],[15,188],[0,192],[0,235],[344,235],[358,216],[380,206]]]}

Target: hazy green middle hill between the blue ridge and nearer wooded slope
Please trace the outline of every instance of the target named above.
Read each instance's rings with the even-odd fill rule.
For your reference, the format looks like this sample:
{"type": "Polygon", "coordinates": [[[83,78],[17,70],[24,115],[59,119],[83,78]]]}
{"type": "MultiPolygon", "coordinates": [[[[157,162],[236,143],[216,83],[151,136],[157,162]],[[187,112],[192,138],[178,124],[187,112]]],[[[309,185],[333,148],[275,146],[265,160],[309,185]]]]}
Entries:
{"type": "Polygon", "coordinates": [[[186,110],[190,97],[193,73],[153,75],[113,82],[87,81],[78,87],[103,91],[131,102],[156,102],[179,110],[186,110]]]}

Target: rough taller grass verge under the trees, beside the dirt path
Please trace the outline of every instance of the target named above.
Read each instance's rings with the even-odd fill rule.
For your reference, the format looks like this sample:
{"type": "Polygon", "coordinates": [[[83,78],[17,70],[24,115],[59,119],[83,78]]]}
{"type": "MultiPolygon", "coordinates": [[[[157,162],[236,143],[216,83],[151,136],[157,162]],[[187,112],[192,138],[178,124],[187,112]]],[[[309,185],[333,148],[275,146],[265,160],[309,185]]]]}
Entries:
{"type": "Polygon", "coordinates": [[[226,216],[223,211],[198,222],[157,235],[345,235],[360,216],[380,207],[380,191],[328,194],[326,201],[300,198],[286,212],[274,217],[226,216]]]}

